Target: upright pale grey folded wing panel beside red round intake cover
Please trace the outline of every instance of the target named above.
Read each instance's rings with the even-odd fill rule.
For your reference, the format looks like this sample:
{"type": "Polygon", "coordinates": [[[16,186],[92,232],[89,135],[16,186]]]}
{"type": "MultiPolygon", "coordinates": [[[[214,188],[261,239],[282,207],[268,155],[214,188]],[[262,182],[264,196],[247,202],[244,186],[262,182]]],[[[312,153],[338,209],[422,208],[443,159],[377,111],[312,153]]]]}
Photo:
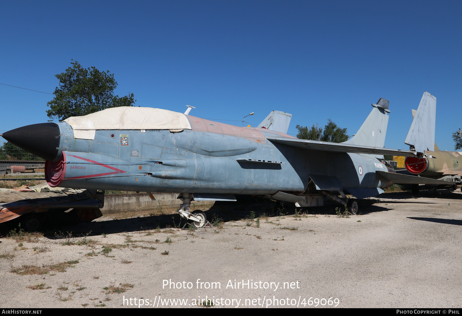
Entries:
{"type": "Polygon", "coordinates": [[[414,114],[411,128],[407,132],[405,144],[413,147],[415,151],[435,150],[435,121],[436,121],[436,98],[428,92],[424,92],[420,100],[417,112],[414,114]]]}

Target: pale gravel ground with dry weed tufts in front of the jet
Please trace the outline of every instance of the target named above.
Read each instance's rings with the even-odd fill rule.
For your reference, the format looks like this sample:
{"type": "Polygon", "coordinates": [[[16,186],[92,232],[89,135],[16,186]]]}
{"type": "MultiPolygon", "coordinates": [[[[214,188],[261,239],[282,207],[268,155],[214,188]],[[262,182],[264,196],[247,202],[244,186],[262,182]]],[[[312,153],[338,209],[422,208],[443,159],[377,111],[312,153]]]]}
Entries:
{"type": "MultiPolygon", "coordinates": [[[[461,198],[388,193],[362,203],[359,216],[325,206],[261,216],[260,227],[236,211],[221,228],[195,231],[156,229],[158,216],[103,217],[71,228],[91,231],[86,238],[2,238],[0,306],[134,308],[142,298],[144,308],[180,306],[168,299],[195,308],[207,297],[213,308],[314,307],[316,299],[337,308],[461,307],[461,198]]],[[[227,205],[223,214],[235,207],[227,205]]]]}

